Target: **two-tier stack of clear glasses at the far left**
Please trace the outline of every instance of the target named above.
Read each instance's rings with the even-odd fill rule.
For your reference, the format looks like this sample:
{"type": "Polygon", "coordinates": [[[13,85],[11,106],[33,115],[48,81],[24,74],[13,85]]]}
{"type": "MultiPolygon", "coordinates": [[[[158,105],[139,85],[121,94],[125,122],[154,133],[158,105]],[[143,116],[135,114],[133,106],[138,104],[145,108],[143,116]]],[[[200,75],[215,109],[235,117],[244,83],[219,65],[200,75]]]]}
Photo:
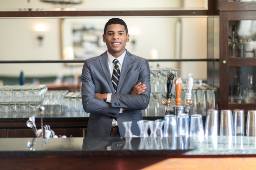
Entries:
{"type": "Polygon", "coordinates": [[[0,118],[29,117],[47,92],[45,85],[0,87],[0,118]]]}

